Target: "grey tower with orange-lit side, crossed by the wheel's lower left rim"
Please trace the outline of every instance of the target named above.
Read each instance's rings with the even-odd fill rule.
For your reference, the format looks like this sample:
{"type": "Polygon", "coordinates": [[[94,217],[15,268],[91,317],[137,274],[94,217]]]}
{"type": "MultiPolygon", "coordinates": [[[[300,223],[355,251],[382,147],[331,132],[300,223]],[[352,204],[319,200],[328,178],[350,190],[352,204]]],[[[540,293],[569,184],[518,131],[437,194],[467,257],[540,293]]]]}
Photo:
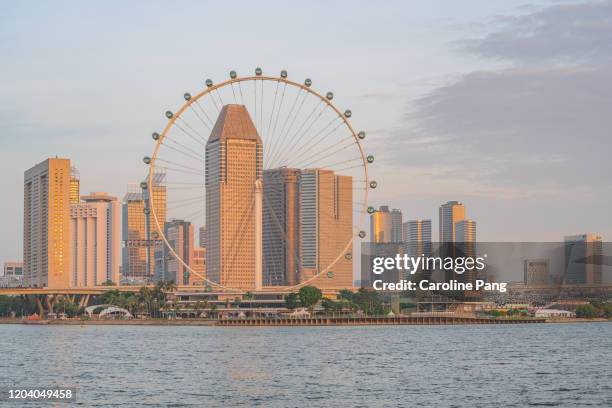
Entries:
{"type": "Polygon", "coordinates": [[[193,263],[193,225],[189,221],[170,220],[164,226],[164,235],[174,253],[168,245],[156,249],[155,279],[188,285],[190,273],[185,264],[191,267],[193,263]]]}

